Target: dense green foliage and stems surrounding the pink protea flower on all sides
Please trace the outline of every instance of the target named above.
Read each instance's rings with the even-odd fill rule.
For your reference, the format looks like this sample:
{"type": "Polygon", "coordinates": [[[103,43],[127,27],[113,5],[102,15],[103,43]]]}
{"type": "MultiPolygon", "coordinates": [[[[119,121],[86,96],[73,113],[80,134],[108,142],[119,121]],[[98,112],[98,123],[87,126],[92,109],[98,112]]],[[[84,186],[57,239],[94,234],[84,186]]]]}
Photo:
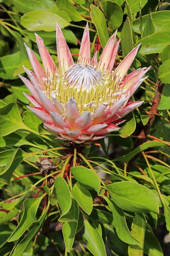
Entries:
{"type": "Polygon", "coordinates": [[[170,231],[167,2],[0,1],[0,255],[163,256],[152,229],[170,231]],[[74,61],[89,22],[92,55],[118,29],[115,66],[140,42],[130,72],[151,66],[132,98],[143,105],[90,147],[56,140],[26,108],[24,42],[41,62],[36,32],[58,65],[56,21],[74,61]]]}

